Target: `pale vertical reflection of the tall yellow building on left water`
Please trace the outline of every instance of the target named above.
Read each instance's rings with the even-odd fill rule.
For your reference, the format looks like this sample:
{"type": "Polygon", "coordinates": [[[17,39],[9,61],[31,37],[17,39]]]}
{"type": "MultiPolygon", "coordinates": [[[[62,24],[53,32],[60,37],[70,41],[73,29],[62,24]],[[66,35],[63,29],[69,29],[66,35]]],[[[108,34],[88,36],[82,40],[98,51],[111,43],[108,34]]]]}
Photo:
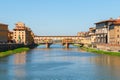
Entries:
{"type": "Polygon", "coordinates": [[[26,75],[25,64],[26,64],[26,52],[22,52],[14,55],[13,65],[16,66],[13,66],[13,69],[10,70],[13,75],[12,78],[20,79],[22,77],[23,79],[25,77],[26,75]]]}

